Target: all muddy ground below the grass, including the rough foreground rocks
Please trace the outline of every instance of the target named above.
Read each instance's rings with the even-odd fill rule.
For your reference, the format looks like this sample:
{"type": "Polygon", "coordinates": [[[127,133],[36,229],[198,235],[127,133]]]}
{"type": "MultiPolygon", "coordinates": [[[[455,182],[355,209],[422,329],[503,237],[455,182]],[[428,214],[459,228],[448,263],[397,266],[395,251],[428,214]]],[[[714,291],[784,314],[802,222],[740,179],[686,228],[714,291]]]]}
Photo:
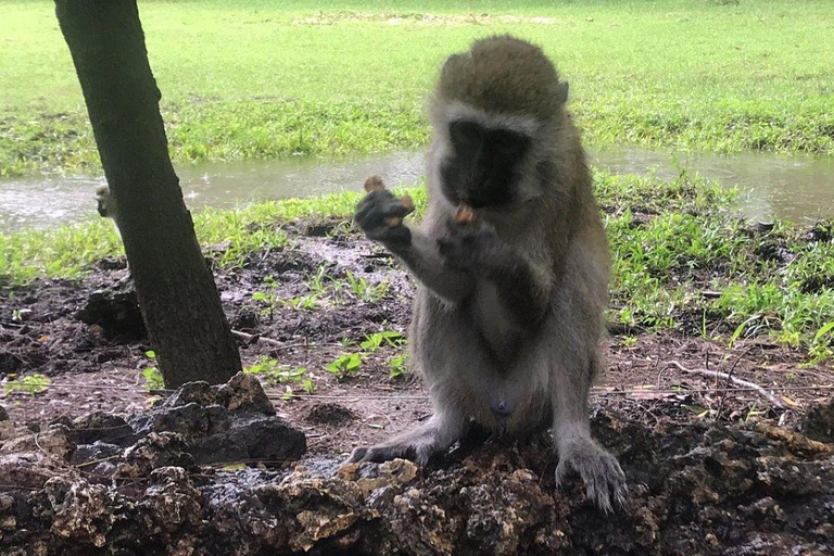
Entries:
{"type": "Polygon", "coordinates": [[[419,380],[390,376],[402,346],[361,346],[372,332],[405,332],[413,285],[389,256],[338,224],[288,225],[286,249],[216,270],[244,364],[269,356],[289,369],[305,367],[315,389],[260,375],[277,416],[268,422],[235,417],[228,401],[201,397],[214,416],[206,422],[220,412],[223,434],[240,419],[279,434],[285,429],[277,420],[286,418],[306,435],[303,455],[250,457],[244,446],[226,463],[245,465],[205,467],[190,453],[194,445],[226,442],[195,443],[194,430],[208,426],[181,426],[181,409],[160,418],[174,425],[151,427],[150,437],[151,429],[137,426],[136,416],[149,415],[151,402],[166,392],[146,389],[142,370],[152,362],[124,261],[102,261],[80,282],[0,292],[0,374],[7,381],[36,372],[51,379],[40,393],[10,392],[0,402],[11,418],[0,475],[24,470],[0,480],[0,491],[9,489],[0,495],[0,546],[23,551],[9,554],[68,554],[74,546],[78,554],[162,554],[164,546],[170,554],[832,553],[834,417],[831,409],[809,417],[809,408],[830,396],[821,387],[834,383],[834,369],[807,366],[805,353],[767,339],[730,349],[691,330],[612,328],[609,370],[592,402],[599,406],[597,437],[634,485],[626,515],[598,514],[582,502],[579,485],[557,490],[544,440],[535,450],[505,450],[490,440],[432,469],[397,463],[339,471],[354,446],[410,427],[430,406],[419,380]],[[387,287],[375,288],[383,281],[387,287]],[[308,308],[268,304],[273,299],[308,308]],[[346,353],[362,353],[363,363],[355,376],[339,379],[326,366],[346,353]],[[723,370],[773,396],[685,369],[723,370]],[[289,401],[288,386],[295,394],[289,401]],[[104,452],[79,447],[101,441],[72,433],[97,429],[89,418],[78,421],[91,412],[128,418],[128,440],[104,452]],[[20,440],[33,434],[61,447],[20,440]],[[146,444],[138,450],[136,442],[146,444]],[[130,467],[136,456],[125,451],[131,450],[167,455],[130,467]],[[115,463],[89,475],[78,467],[79,451],[115,463]],[[283,463],[299,456],[295,468],[283,463]]]}

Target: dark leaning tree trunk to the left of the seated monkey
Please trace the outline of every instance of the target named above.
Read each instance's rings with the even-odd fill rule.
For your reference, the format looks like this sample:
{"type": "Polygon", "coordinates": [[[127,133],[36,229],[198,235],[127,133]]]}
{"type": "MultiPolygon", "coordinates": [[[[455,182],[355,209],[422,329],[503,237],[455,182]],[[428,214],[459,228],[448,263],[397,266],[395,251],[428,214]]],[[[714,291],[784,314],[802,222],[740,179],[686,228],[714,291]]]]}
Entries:
{"type": "Polygon", "coordinates": [[[165,384],[219,383],[240,354],[182,201],[136,0],[55,0],[165,384]]]}

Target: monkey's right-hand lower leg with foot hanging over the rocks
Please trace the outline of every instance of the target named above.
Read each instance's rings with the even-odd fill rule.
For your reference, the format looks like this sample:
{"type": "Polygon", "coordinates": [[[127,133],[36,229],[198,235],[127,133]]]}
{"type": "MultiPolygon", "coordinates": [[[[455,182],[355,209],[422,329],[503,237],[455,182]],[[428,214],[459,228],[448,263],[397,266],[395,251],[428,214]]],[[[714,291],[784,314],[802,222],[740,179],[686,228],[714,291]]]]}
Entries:
{"type": "MultiPolygon", "coordinates": [[[[563,353],[568,357],[572,355],[570,352],[563,353]]],[[[572,365],[566,361],[565,366],[556,369],[552,377],[555,405],[553,434],[559,454],[556,482],[561,483],[570,470],[577,471],[585,483],[589,500],[605,513],[610,513],[615,505],[626,506],[626,473],[617,458],[591,438],[586,400],[591,379],[596,374],[594,366],[599,365],[598,356],[589,361],[578,353],[576,359],[583,362],[585,368],[579,367],[577,361],[572,365]]]]}

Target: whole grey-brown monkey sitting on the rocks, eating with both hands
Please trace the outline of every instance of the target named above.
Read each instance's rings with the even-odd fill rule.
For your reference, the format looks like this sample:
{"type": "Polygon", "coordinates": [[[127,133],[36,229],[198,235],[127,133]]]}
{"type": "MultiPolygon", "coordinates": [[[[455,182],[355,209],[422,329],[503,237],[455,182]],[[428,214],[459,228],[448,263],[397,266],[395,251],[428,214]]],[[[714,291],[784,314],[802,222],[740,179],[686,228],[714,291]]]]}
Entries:
{"type": "Polygon", "coordinates": [[[519,438],[549,429],[557,484],[574,471],[601,509],[626,506],[626,475],[590,430],[610,258],[567,100],[541,48],[478,40],[447,59],[429,101],[419,226],[388,190],[357,204],[358,227],[417,282],[410,361],[433,415],[349,462],[425,465],[473,425],[519,438]]]}

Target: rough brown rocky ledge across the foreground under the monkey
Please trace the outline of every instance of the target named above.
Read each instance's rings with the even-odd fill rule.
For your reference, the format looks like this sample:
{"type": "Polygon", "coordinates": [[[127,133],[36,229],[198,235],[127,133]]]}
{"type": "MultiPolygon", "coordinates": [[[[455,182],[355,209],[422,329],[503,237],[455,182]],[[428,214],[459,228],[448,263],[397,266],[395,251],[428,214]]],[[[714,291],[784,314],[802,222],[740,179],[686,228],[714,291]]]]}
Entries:
{"type": "Polygon", "coordinates": [[[0,486],[3,554],[834,553],[834,444],[789,428],[646,427],[596,409],[594,434],[631,484],[629,507],[602,515],[578,481],[554,483],[546,438],[488,439],[424,468],[267,460],[250,443],[257,435],[226,437],[253,418],[283,426],[265,401],[239,375],[219,388],[187,384],[128,421],[97,414],[37,431],[0,422],[0,476],[14,481],[0,486]],[[108,435],[127,422],[154,427],[108,435]],[[218,448],[237,440],[254,458],[199,466],[213,434],[218,448]]]}

